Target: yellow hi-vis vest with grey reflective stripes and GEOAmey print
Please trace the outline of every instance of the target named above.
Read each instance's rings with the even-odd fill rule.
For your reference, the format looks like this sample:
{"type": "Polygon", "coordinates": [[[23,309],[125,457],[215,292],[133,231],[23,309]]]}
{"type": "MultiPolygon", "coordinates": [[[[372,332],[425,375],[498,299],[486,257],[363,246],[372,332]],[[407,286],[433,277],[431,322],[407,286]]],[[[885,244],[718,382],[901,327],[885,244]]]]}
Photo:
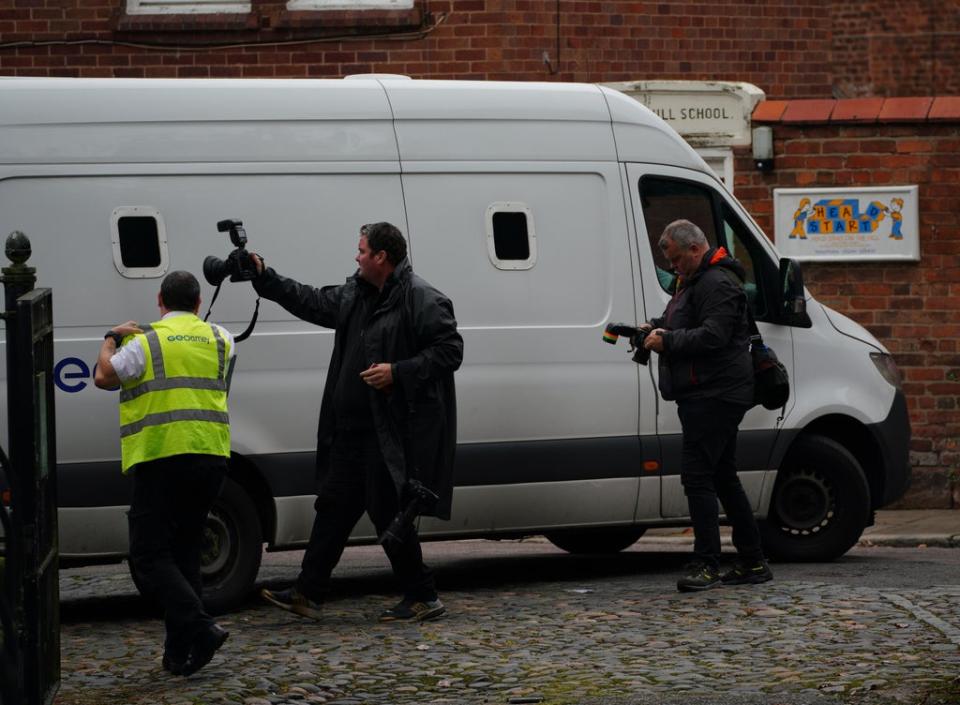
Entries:
{"type": "Polygon", "coordinates": [[[123,472],[171,455],[229,457],[230,344],[220,330],[189,314],[144,326],[132,337],[143,347],[146,367],[121,384],[123,472]]]}

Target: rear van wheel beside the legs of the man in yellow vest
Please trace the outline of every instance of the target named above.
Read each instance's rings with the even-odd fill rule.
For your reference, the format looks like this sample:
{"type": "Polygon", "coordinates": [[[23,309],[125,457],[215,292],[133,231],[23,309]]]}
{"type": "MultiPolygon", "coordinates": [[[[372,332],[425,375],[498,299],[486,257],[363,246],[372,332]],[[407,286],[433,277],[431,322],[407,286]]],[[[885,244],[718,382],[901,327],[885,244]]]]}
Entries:
{"type": "Polygon", "coordinates": [[[229,477],[213,503],[203,531],[200,572],[203,604],[222,614],[243,603],[253,588],[263,556],[263,530],[250,496],[229,477]]]}

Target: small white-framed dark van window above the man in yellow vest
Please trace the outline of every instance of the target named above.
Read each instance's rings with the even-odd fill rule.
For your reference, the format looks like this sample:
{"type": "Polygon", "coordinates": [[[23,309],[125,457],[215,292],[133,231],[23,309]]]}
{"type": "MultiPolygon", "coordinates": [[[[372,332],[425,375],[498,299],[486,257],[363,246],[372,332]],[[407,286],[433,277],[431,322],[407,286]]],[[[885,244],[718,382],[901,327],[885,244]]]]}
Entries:
{"type": "Polygon", "coordinates": [[[125,277],[160,277],[167,271],[167,234],[160,211],[149,206],[115,208],[111,217],[113,263],[125,277]]]}

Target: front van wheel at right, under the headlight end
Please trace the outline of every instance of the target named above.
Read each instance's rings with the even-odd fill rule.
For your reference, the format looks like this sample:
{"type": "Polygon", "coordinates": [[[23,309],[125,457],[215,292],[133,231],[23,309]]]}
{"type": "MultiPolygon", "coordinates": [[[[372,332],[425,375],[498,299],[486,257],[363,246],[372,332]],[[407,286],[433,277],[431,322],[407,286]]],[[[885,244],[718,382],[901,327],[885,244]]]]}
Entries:
{"type": "Polygon", "coordinates": [[[850,451],[825,436],[801,436],[780,466],[764,551],[781,561],[832,561],[860,540],[870,518],[870,487],[850,451]]]}

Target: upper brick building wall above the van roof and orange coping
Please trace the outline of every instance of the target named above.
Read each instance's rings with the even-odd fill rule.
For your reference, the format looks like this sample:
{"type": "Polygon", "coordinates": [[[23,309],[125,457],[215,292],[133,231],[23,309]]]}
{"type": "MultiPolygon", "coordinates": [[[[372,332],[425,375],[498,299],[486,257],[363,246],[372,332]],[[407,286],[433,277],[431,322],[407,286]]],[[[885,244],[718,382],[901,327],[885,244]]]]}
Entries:
{"type": "Polygon", "coordinates": [[[321,13],[285,5],[130,17],[124,0],[2,0],[0,75],[385,72],[748,81],[771,98],[960,93],[955,2],[417,0],[410,11],[321,13]]]}

